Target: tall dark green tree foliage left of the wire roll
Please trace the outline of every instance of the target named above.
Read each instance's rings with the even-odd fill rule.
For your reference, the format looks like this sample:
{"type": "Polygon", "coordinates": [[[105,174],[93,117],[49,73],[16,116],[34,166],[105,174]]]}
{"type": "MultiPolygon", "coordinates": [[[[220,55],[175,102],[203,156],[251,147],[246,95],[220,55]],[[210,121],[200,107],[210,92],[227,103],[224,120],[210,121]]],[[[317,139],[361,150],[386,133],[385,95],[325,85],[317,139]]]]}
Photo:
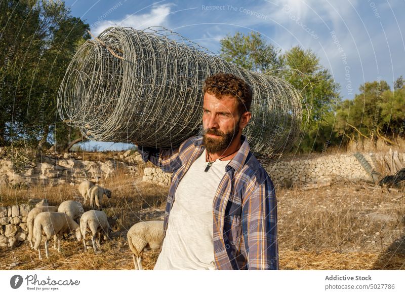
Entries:
{"type": "MultiPolygon", "coordinates": [[[[46,142],[60,123],[57,92],[89,25],[72,17],[61,1],[0,3],[0,144],[23,138],[46,142]]],[[[69,138],[64,139],[65,144],[69,138]]]]}

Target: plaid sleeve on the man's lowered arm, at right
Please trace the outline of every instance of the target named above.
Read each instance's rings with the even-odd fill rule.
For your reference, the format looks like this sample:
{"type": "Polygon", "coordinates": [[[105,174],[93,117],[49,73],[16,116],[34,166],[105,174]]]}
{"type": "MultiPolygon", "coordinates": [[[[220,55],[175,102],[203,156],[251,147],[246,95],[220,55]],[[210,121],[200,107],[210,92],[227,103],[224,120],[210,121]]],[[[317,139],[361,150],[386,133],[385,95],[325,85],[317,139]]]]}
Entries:
{"type": "Polygon", "coordinates": [[[242,206],[242,230],[249,270],[277,270],[277,201],[270,177],[255,187],[242,206]]]}

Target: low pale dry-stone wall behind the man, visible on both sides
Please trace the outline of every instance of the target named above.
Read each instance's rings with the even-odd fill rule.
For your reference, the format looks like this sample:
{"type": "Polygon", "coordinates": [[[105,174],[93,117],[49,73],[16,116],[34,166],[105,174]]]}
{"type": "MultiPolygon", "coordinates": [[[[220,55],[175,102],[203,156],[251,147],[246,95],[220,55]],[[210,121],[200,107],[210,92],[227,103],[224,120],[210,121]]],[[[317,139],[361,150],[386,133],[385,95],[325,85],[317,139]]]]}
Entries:
{"type": "MultiPolygon", "coordinates": [[[[384,166],[388,164],[384,164],[383,160],[384,156],[392,157],[392,154],[394,156],[396,155],[397,165],[394,165],[394,168],[387,170],[389,170],[388,174],[393,174],[397,169],[405,167],[405,153],[390,152],[387,153],[387,155],[382,155],[381,153],[368,153],[362,155],[373,170],[378,171],[381,174],[387,174],[387,170],[384,169],[384,166]]],[[[294,183],[322,183],[341,179],[352,181],[373,180],[371,175],[362,167],[354,154],[315,155],[307,159],[278,161],[271,164],[262,162],[262,165],[275,185],[276,183],[286,186],[294,183]]],[[[144,172],[143,181],[163,185],[170,184],[170,173],[164,173],[159,168],[145,168],[144,172]]]]}

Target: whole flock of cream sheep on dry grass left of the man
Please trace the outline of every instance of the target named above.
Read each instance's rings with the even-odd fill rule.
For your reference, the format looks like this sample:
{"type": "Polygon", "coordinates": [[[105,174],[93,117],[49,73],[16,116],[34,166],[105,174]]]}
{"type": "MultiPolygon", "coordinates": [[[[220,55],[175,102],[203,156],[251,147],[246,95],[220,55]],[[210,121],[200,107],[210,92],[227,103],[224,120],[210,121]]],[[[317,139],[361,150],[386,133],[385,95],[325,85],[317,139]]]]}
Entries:
{"type": "MultiPolygon", "coordinates": [[[[93,210],[84,212],[82,204],[69,200],[62,202],[59,207],[40,206],[33,208],[28,213],[27,241],[31,248],[38,250],[40,260],[42,260],[42,255],[39,247],[43,236],[46,237],[44,247],[47,257],[49,257],[48,245],[52,237],[54,238],[54,248],[59,252],[61,251],[60,242],[64,234],[73,233],[78,241],[83,238],[85,251],[87,249],[86,232],[88,228],[92,234],[92,246],[95,252],[100,251],[102,237],[104,240],[110,239],[109,235],[112,229],[108,224],[107,215],[103,211],[94,210],[94,203],[100,209],[103,195],[111,198],[111,191],[94,185],[88,180],[80,183],[78,190],[85,199],[84,204],[89,199],[93,210]],[[58,246],[56,246],[57,241],[58,246]]],[[[163,243],[163,221],[151,220],[137,223],[130,228],[127,238],[129,248],[133,252],[135,269],[142,270],[144,250],[160,249],[163,243]]]]}

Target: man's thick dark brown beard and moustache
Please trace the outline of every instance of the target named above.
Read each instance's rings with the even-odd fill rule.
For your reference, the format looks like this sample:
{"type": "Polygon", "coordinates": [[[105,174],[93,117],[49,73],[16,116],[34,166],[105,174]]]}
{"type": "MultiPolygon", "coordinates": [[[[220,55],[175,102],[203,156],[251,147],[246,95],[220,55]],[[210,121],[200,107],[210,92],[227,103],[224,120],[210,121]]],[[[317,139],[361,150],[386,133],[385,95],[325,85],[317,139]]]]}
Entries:
{"type": "Polygon", "coordinates": [[[230,130],[227,133],[223,133],[219,129],[214,128],[204,129],[203,142],[206,146],[207,152],[210,154],[215,154],[221,151],[225,151],[239,132],[239,122],[240,118],[235,124],[233,130],[230,130]],[[211,136],[207,136],[207,134],[219,135],[221,137],[214,138],[211,136]]]}

